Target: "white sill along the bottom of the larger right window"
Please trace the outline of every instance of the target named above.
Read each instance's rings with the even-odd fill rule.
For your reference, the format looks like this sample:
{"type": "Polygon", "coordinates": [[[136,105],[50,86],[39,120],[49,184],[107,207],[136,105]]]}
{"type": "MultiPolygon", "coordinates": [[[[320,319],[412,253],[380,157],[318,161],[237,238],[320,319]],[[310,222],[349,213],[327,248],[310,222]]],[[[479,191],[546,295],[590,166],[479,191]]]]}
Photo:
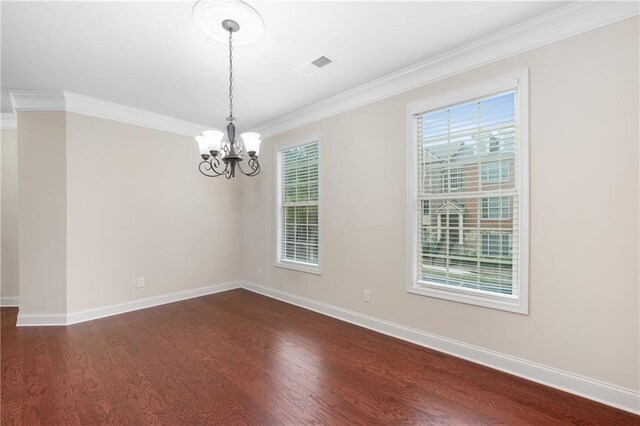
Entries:
{"type": "Polygon", "coordinates": [[[409,293],[421,296],[435,297],[452,302],[482,306],[501,311],[514,312],[521,315],[529,314],[529,306],[522,298],[494,295],[483,291],[460,288],[444,288],[438,284],[414,284],[407,290],[409,293]]]}

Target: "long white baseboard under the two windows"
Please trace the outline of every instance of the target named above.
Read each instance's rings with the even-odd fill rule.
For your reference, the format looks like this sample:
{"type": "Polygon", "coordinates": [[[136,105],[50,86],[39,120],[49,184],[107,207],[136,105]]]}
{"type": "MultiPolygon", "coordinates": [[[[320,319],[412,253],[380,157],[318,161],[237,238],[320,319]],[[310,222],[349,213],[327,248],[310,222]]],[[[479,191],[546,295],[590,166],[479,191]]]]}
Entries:
{"type": "Polygon", "coordinates": [[[548,367],[504,353],[492,351],[461,341],[427,333],[400,324],[381,320],[358,312],[342,309],[312,299],[296,296],[258,284],[243,282],[242,288],[301,308],[330,316],[391,337],[402,339],[429,349],[466,359],[514,376],[522,377],[552,388],[582,396],[621,410],[640,414],[640,392],[590,379],[578,374],[548,367]]]}

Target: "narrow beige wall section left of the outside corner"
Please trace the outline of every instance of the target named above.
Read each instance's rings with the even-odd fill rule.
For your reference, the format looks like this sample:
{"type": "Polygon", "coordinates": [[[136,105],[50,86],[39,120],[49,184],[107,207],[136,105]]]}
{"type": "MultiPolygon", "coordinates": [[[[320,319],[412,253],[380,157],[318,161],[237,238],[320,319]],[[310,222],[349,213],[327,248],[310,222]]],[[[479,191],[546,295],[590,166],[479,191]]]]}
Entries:
{"type": "Polygon", "coordinates": [[[64,112],[18,112],[20,313],[66,312],[64,112]]]}

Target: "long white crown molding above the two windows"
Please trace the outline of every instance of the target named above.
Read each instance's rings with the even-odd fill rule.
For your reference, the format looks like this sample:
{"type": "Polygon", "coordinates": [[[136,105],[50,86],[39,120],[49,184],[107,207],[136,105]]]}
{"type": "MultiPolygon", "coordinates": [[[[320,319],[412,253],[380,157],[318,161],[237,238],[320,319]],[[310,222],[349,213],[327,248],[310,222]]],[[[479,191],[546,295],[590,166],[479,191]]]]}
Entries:
{"type": "Polygon", "coordinates": [[[574,2],[257,126],[263,138],[612,24],[637,2],[574,2]]]}

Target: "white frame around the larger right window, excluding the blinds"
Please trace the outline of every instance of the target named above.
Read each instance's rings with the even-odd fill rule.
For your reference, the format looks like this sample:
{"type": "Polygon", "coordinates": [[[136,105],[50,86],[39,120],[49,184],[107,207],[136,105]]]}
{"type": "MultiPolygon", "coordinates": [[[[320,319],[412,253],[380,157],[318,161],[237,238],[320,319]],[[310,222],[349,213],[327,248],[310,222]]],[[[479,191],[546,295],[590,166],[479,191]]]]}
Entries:
{"type": "MultiPolygon", "coordinates": [[[[407,105],[407,292],[466,303],[517,314],[529,313],[529,70],[523,69],[486,80],[471,86],[442,93],[407,105]],[[519,147],[515,152],[514,178],[518,179],[518,246],[511,247],[519,254],[518,291],[514,295],[499,295],[488,291],[457,288],[436,283],[418,284],[418,225],[417,194],[417,127],[415,114],[424,113],[458,103],[516,90],[516,132],[519,147]],[[517,174],[516,174],[517,171],[517,174]]],[[[490,195],[488,195],[490,196],[490,195]]],[[[496,194],[495,196],[500,196],[496,194]]],[[[510,212],[510,216],[512,216],[510,212]]],[[[515,264],[514,264],[515,267],[515,264]]]]}

